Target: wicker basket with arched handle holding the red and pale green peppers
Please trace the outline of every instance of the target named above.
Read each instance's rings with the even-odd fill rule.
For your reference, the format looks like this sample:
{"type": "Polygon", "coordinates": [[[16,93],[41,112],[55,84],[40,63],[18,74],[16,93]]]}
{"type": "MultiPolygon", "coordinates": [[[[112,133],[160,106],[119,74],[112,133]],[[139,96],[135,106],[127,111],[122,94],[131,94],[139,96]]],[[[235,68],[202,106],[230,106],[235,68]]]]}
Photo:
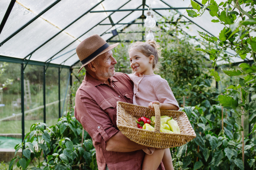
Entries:
{"type": "Polygon", "coordinates": [[[177,147],[191,141],[196,137],[186,113],[181,111],[159,110],[158,105],[153,104],[155,109],[155,131],[144,130],[137,127],[136,120],[140,117],[154,116],[154,111],[139,105],[125,102],[117,102],[116,124],[119,130],[128,139],[138,144],[155,148],[177,147]],[[160,116],[172,116],[180,127],[180,133],[160,132],[160,116]]]}

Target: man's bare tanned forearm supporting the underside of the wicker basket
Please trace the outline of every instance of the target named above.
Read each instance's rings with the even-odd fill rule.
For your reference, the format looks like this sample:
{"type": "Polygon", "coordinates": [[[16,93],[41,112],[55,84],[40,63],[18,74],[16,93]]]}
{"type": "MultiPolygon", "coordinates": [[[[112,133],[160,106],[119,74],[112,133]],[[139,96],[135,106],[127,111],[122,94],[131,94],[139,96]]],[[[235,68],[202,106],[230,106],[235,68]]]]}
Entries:
{"type": "Polygon", "coordinates": [[[120,131],[112,136],[107,143],[106,150],[113,152],[132,152],[135,150],[141,150],[148,148],[146,146],[132,142],[120,131]]]}

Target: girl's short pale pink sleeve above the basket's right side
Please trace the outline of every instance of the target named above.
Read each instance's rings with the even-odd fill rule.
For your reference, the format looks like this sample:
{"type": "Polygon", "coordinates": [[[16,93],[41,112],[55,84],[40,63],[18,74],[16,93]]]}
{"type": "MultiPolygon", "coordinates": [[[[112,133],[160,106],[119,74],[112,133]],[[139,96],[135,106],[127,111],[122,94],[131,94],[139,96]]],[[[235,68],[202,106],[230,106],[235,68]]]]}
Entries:
{"type": "Polygon", "coordinates": [[[165,79],[161,79],[155,86],[155,92],[160,103],[169,103],[178,107],[180,109],[172,90],[165,79]]]}

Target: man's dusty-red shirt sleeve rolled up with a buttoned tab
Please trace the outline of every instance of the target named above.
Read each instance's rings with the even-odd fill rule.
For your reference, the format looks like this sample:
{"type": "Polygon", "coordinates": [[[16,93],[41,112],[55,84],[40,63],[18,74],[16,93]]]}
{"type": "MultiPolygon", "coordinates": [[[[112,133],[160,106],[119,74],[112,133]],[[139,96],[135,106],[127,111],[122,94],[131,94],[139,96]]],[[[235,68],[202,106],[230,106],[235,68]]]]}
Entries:
{"type": "Polygon", "coordinates": [[[106,142],[119,130],[114,127],[109,115],[89,95],[81,91],[76,95],[76,119],[92,137],[94,147],[106,150],[106,142]]]}

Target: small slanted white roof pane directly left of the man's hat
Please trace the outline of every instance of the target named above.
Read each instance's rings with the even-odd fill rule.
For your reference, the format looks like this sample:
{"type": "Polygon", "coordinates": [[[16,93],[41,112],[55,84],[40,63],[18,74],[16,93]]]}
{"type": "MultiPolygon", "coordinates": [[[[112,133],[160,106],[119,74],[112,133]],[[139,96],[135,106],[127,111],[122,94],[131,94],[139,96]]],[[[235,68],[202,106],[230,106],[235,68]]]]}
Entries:
{"type": "MultiPolygon", "coordinates": [[[[73,42],[71,45],[69,45],[67,48],[65,48],[63,51],[61,51],[55,57],[53,57],[53,60],[51,61],[51,63],[60,64],[61,62],[64,62],[68,57],[70,57],[71,55],[73,55],[76,52],[76,47],[79,44],[80,44],[80,41],[73,42]],[[68,51],[70,51],[70,52],[68,52],[68,51]],[[65,54],[65,53],[67,53],[67,54],[65,54]]],[[[65,63],[65,65],[66,64],[67,64],[67,62],[65,63]]]]}

